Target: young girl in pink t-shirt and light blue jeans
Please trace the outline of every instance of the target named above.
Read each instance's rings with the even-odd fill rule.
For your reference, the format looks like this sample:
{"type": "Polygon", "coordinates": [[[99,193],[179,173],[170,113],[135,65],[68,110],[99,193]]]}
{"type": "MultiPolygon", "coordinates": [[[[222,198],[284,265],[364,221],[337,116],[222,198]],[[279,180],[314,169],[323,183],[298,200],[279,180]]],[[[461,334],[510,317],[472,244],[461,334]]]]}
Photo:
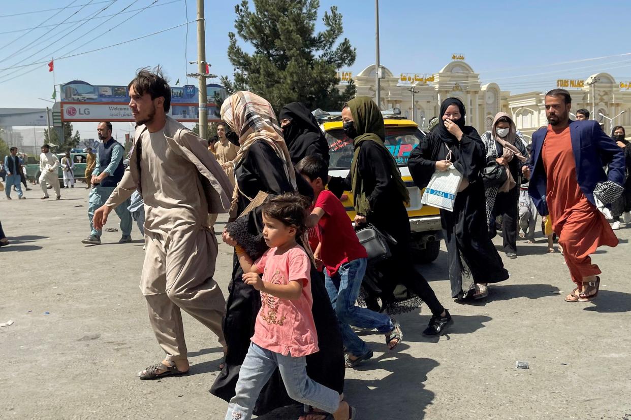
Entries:
{"type": "Polygon", "coordinates": [[[307,376],[305,356],[317,352],[318,346],[311,313],[311,262],[296,237],[305,230],[309,205],[304,197],[292,194],[269,199],[262,207],[268,251],[252,263],[244,250],[236,247],[245,273],[243,280],[261,292],[261,310],[226,420],[252,417],[259,393],[277,367],[292,399],[330,412],[335,420],[355,416],[355,409],[340,401],[337,391],[307,376]]]}

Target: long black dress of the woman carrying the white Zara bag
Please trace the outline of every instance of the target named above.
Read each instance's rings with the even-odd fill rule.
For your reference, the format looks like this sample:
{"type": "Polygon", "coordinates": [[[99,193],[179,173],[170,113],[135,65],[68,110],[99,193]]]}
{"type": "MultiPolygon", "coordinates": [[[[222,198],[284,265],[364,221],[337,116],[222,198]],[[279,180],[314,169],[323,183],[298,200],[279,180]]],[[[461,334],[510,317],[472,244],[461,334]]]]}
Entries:
{"type": "Polygon", "coordinates": [[[475,128],[465,126],[463,133],[460,142],[445,142],[434,130],[412,150],[408,160],[414,183],[425,188],[436,171],[436,161],[444,161],[451,149],[451,162],[469,180],[469,185],[457,193],[454,210],[440,210],[453,298],[470,296],[475,292],[473,282],[497,283],[509,278],[487,232],[484,184],[480,178],[486,162],[484,144],[475,128]],[[469,277],[463,262],[473,276],[473,282],[465,281],[464,285],[463,275],[469,277]]]}

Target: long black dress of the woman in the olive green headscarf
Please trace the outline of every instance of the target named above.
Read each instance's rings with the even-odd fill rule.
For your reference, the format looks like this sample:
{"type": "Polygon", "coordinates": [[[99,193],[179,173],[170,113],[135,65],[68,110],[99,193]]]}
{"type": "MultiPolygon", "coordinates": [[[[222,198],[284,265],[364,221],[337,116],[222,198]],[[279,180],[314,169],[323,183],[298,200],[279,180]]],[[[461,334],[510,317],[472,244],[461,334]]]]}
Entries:
{"type": "MultiPolygon", "coordinates": [[[[363,187],[370,203],[371,211],[366,217],[367,222],[378,230],[387,232],[397,241],[396,246],[391,247],[392,257],[379,266],[379,271],[391,280],[387,282],[389,290],[383,292],[385,295],[391,295],[396,285],[403,284],[422,298],[432,314],[440,315],[444,308],[427,280],[412,264],[408,212],[392,179],[387,161],[392,157],[386,153],[387,150],[375,142],[363,142],[360,145],[357,168],[362,174],[363,187]]],[[[344,191],[350,191],[350,174],[346,178],[331,178],[328,187],[337,196],[344,191]]]]}

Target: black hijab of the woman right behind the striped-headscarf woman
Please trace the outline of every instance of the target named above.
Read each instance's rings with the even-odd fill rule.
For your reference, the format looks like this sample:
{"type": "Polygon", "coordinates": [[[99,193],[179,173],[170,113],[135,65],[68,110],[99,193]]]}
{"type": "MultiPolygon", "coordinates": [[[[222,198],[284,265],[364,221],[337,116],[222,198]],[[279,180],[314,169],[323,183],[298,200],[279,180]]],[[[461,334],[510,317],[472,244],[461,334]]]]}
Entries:
{"type": "Polygon", "coordinates": [[[283,127],[283,138],[293,164],[306,156],[318,155],[328,165],[329,144],[309,108],[302,102],[288,103],[278,114],[278,120],[283,118],[292,120],[283,127]]]}

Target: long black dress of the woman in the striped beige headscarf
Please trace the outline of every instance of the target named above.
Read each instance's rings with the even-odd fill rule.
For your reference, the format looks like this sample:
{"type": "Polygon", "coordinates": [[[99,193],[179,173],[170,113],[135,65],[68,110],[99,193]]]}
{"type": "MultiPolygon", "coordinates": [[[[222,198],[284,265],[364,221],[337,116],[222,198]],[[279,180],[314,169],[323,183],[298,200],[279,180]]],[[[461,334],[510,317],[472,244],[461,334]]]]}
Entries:
{"type": "MultiPolygon", "coordinates": [[[[252,144],[247,157],[235,168],[235,176],[242,193],[254,198],[259,191],[280,195],[292,191],[292,186],[280,168],[283,162],[265,142],[252,144]]],[[[237,213],[249,204],[239,196],[237,213]]],[[[319,337],[320,351],[307,356],[307,374],[316,382],[338,391],[344,389],[344,353],[337,319],[324,283],[313,272],[311,293],[312,313],[319,337]]],[[[210,392],[229,401],[235,395],[239,369],[247,355],[250,339],[254,335],[254,322],[261,307],[259,292],[242,281],[243,270],[236,254],[233,256],[232,281],[228,285],[226,315],[223,319],[223,334],[228,346],[225,367],[215,380],[210,392]]],[[[254,414],[260,416],[278,407],[297,404],[288,397],[278,370],[270,378],[257,400],[254,414]]]]}

